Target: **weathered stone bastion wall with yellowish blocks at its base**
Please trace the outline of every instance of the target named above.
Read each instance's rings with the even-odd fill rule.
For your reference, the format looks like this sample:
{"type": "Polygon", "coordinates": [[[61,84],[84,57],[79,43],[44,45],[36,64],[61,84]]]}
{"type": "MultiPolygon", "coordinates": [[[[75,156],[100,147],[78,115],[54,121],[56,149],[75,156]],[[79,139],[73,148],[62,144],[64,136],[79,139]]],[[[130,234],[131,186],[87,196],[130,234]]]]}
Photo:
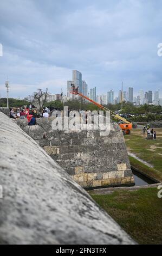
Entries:
{"type": "Polygon", "coordinates": [[[111,123],[109,135],[99,130],[53,130],[54,118],[39,118],[36,126],[17,123],[84,188],[134,184],[124,136],[111,123]],[[46,138],[43,138],[46,133],[46,138]]]}

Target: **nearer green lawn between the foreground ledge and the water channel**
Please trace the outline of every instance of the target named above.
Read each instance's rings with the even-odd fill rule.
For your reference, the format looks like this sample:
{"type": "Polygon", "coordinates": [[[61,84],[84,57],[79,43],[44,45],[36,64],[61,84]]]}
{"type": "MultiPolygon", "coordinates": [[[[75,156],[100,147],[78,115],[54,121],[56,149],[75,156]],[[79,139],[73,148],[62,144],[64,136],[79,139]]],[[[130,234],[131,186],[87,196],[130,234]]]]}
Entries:
{"type": "Polygon", "coordinates": [[[112,194],[90,196],[140,244],[162,243],[162,198],[157,188],[137,191],[115,191],[112,194]]]}

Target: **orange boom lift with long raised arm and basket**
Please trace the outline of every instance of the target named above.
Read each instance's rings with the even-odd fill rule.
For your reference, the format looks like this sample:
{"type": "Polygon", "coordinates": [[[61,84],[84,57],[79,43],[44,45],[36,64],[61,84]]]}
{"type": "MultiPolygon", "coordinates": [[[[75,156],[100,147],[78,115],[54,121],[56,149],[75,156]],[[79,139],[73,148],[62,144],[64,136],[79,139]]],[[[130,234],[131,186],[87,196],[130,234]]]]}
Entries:
{"type": "Polygon", "coordinates": [[[109,113],[114,117],[114,118],[117,118],[120,120],[120,124],[119,126],[121,127],[122,129],[122,132],[124,135],[126,134],[130,134],[131,133],[131,130],[132,130],[132,123],[127,121],[125,118],[123,117],[120,117],[120,115],[116,114],[115,112],[109,110],[108,108],[106,108],[105,106],[102,106],[101,104],[95,102],[94,100],[91,100],[89,99],[87,96],[83,95],[82,93],[79,92],[79,87],[75,88],[75,85],[74,84],[71,84],[72,86],[72,90],[70,93],[72,94],[75,94],[75,95],[79,95],[81,97],[83,97],[84,99],[94,103],[96,106],[98,106],[99,108],[103,109],[103,110],[106,110],[106,111],[109,111],[109,113]]]}

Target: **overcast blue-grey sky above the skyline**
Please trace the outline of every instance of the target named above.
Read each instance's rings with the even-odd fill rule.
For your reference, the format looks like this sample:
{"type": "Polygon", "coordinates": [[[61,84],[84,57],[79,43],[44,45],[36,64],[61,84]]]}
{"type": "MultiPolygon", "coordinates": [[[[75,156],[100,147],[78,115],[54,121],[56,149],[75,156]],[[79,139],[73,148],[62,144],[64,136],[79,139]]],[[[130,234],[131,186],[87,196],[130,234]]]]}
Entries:
{"type": "Polygon", "coordinates": [[[162,89],[162,1],[1,0],[0,94],[66,93],[72,70],[97,93],[162,89]]]}

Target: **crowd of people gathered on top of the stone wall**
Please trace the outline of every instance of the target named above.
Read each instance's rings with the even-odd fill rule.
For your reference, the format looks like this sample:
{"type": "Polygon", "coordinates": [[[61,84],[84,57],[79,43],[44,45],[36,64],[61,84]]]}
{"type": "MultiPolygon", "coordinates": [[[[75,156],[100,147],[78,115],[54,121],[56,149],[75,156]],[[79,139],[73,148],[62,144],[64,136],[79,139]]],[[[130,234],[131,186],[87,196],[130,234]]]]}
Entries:
{"type": "Polygon", "coordinates": [[[36,118],[49,118],[52,110],[48,107],[43,107],[41,112],[38,112],[38,109],[30,104],[20,108],[10,108],[10,118],[27,119],[28,125],[36,125],[36,118]]]}

